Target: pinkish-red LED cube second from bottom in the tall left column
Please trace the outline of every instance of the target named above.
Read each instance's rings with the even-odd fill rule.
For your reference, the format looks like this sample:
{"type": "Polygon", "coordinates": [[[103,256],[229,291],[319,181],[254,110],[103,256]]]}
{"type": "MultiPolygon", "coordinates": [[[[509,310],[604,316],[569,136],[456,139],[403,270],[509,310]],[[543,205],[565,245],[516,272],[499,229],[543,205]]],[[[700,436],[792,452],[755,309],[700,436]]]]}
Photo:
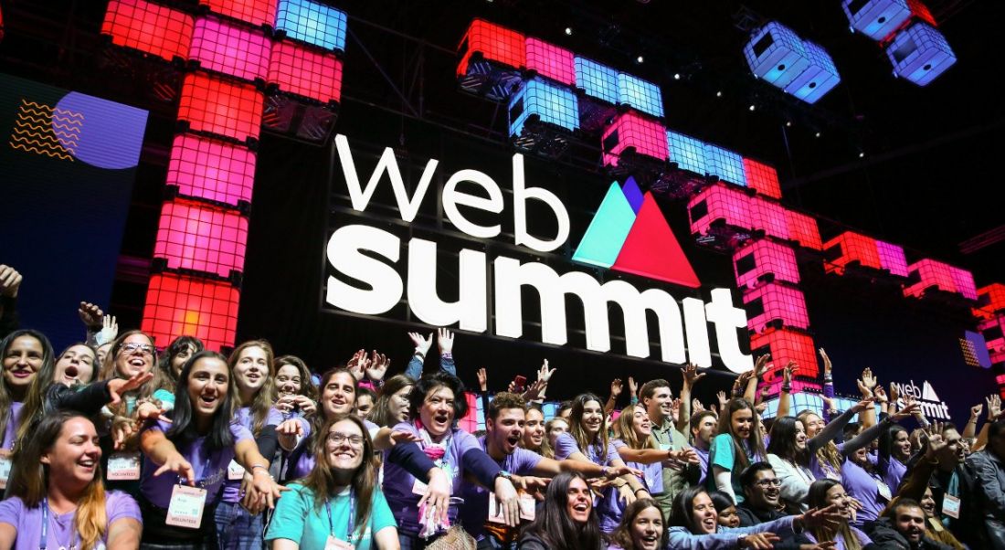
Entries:
{"type": "Polygon", "coordinates": [[[220,277],[244,268],[248,220],[238,212],[185,200],[165,202],[154,256],[173,269],[196,269],[220,277]]]}

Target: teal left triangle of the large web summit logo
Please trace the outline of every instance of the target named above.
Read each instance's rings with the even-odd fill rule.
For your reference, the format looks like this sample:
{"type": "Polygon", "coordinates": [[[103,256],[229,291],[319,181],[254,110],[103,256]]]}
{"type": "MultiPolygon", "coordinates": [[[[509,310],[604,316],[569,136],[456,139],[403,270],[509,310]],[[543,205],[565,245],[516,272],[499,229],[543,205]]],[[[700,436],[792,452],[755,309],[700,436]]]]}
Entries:
{"type": "Polygon", "coordinates": [[[610,267],[618,258],[621,245],[624,244],[635,222],[635,210],[625,197],[617,182],[607,189],[597,214],[586,228],[583,240],[579,241],[574,261],[610,267]]]}

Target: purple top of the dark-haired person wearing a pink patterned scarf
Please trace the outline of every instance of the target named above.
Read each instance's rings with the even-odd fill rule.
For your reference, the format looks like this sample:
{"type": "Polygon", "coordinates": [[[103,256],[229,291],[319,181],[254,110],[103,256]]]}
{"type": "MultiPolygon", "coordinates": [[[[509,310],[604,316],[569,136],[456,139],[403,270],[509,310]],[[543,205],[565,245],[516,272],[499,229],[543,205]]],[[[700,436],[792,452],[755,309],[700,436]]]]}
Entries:
{"type": "MultiPolygon", "coordinates": [[[[407,431],[416,436],[420,436],[419,429],[415,427],[412,422],[401,422],[400,424],[394,426],[395,430],[407,431]]],[[[399,443],[399,444],[417,444],[419,447],[424,447],[425,443],[399,443]]],[[[471,450],[472,448],[478,448],[478,440],[474,438],[470,433],[454,428],[450,432],[450,444],[446,448],[446,452],[443,455],[443,468],[448,471],[447,474],[453,481],[453,489],[451,490],[451,495],[455,497],[461,496],[461,486],[464,483],[464,465],[461,464],[461,457],[465,452],[471,450]]],[[[422,498],[419,495],[412,493],[412,487],[415,485],[415,478],[412,477],[405,469],[400,466],[390,462],[388,456],[390,451],[385,451],[384,453],[384,496],[387,498],[387,503],[391,506],[391,513],[394,514],[394,519],[398,521],[398,532],[415,534],[419,532],[419,500],[422,498]]],[[[457,516],[457,509],[455,504],[451,504],[450,511],[448,515],[453,518],[457,516]]]]}

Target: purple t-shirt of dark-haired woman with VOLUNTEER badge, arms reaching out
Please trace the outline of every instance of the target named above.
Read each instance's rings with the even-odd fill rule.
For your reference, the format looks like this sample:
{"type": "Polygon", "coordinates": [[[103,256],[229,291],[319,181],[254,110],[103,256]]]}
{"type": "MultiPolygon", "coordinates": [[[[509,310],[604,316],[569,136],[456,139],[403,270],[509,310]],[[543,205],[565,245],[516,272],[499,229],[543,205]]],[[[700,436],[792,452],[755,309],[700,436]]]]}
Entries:
{"type": "MultiPolygon", "coordinates": [[[[144,431],[158,429],[167,433],[170,427],[171,424],[168,422],[158,420],[155,424],[145,428],[144,431]]],[[[235,444],[240,441],[254,440],[251,431],[236,422],[230,423],[230,434],[233,435],[235,444]]],[[[182,456],[192,465],[192,470],[195,471],[195,485],[206,490],[206,504],[209,505],[216,500],[223,488],[223,482],[227,479],[227,467],[230,465],[230,461],[234,460],[234,446],[209,451],[206,448],[205,439],[205,437],[197,437],[187,444],[181,444],[178,446],[178,452],[181,452],[182,456]]],[[[178,475],[174,472],[166,472],[155,478],[154,472],[157,472],[160,466],[154,464],[146,454],[143,456],[143,462],[140,492],[154,506],[167,509],[168,505],[171,504],[171,493],[174,491],[175,485],[179,483],[178,475]]]]}

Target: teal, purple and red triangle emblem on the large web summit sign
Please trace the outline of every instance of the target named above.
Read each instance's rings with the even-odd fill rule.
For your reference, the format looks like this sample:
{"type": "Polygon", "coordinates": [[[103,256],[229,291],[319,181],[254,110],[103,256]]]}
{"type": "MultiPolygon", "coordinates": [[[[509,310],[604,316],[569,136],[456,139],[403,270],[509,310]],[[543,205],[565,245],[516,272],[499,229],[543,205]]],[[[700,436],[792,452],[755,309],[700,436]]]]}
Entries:
{"type": "Polygon", "coordinates": [[[607,189],[573,259],[691,289],[701,285],[656,200],[631,177],[624,187],[614,182],[607,189]]]}

